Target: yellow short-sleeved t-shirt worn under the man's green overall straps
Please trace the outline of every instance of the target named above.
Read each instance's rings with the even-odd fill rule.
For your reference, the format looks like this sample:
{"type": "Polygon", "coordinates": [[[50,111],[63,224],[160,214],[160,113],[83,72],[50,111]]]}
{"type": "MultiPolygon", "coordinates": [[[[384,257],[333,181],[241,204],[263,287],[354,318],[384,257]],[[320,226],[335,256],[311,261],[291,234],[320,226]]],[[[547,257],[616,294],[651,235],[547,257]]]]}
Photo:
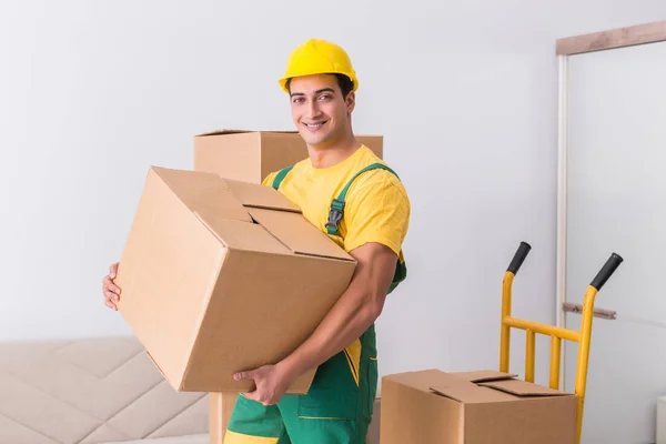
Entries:
{"type": "MultiPolygon", "coordinates": [[[[329,234],[325,226],[333,199],[354,174],[376,162],[386,164],[365,145],[330,168],[313,168],[310,159],[305,159],[286,174],[280,192],[346,252],[367,242],[379,242],[391,248],[402,262],[411,204],[402,182],[390,171],[376,169],[359,175],[347,191],[339,235],[329,234]]],[[[276,173],[269,174],[263,184],[271,185],[276,173]]]]}

